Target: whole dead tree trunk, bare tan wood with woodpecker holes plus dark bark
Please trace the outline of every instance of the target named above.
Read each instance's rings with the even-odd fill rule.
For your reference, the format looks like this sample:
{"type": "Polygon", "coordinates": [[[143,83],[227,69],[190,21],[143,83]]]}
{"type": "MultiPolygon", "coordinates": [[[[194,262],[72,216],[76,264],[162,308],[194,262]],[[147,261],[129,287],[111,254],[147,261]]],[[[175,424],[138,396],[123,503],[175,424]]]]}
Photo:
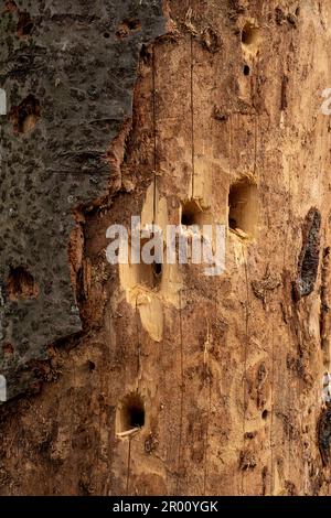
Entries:
{"type": "Polygon", "coordinates": [[[2,365],[47,380],[1,409],[1,494],[328,494],[331,7],[72,3],[1,13],[2,365]],[[109,225],[190,199],[224,274],[106,261],[109,225]]]}

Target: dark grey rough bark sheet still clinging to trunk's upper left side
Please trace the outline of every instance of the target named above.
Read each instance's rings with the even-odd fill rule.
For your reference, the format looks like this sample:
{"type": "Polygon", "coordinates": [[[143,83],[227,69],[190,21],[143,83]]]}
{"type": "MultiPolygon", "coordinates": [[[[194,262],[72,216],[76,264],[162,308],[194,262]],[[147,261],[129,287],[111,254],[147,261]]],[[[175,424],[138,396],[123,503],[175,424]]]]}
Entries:
{"type": "Polygon", "coordinates": [[[50,344],[61,344],[82,331],[76,287],[82,276],[84,218],[77,220],[77,207],[98,205],[120,188],[120,157],[109,142],[120,140],[132,116],[140,48],[164,35],[168,23],[161,0],[147,6],[125,0],[120,7],[108,1],[99,10],[89,0],[68,9],[64,2],[60,11],[57,2],[53,13],[40,0],[18,4],[17,9],[0,8],[0,86],[8,93],[9,114],[33,94],[41,117],[35,126],[24,127],[29,132],[23,138],[14,134],[11,117],[2,125],[0,373],[7,378],[9,399],[39,385],[50,344]],[[33,24],[24,39],[18,31],[20,12],[26,12],[33,24]],[[120,23],[131,17],[141,25],[119,39],[120,23]],[[62,37],[66,48],[56,46],[62,37]],[[111,53],[109,71],[104,58],[111,53]],[[12,169],[17,170],[15,185],[12,169]],[[29,214],[22,213],[25,206],[31,206],[29,214]],[[75,241],[79,253],[74,250],[75,241]],[[22,265],[36,280],[40,296],[10,301],[6,281],[10,270],[22,265]],[[6,344],[11,344],[10,356],[4,355],[6,344]],[[35,368],[39,365],[41,369],[35,368]]]}

